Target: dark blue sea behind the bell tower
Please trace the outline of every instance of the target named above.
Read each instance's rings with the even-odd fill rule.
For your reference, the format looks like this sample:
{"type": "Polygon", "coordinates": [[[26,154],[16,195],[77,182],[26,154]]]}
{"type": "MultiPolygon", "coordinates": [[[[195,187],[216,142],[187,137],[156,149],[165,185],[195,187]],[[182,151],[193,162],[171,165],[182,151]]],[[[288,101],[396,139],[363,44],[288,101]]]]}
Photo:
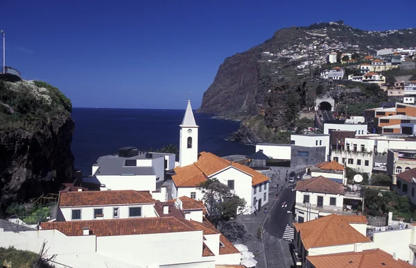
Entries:
{"type": "MultiPolygon", "coordinates": [[[[75,167],[90,175],[100,156],[116,153],[120,147],[159,149],[167,144],[179,146],[179,125],[184,110],[73,108],[75,132],[71,150],[75,167]]],[[[198,151],[217,156],[254,153],[254,146],[225,140],[239,128],[239,122],[212,119],[194,114],[199,126],[198,151]]]]}

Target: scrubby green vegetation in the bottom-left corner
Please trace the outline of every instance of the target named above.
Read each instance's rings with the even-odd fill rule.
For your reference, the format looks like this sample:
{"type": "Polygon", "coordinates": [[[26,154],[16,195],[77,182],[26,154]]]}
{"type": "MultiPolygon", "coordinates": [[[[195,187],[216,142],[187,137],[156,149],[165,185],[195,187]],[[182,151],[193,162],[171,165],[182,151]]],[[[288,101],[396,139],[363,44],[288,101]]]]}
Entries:
{"type": "Polygon", "coordinates": [[[13,247],[0,247],[0,264],[6,263],[12,268],[51,268],[42,256],[31,251],[20,251],[13,247]]]}

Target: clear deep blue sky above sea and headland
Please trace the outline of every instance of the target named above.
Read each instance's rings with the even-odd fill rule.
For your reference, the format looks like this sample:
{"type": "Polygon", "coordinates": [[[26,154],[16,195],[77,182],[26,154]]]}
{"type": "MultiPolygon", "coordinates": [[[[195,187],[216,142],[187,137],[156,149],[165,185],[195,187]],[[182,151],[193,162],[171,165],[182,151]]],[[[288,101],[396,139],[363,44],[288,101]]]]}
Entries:
{"type": "Polygon", "coordinates": [[[74,107],[185,108],[191,99],[198,108],[227,56],[261,44],[279,28],[339,19],[372,31],[416,27],[414,5],[1,1],[0,28],[6,31],[6,66],[59,87],[74,107]]]}

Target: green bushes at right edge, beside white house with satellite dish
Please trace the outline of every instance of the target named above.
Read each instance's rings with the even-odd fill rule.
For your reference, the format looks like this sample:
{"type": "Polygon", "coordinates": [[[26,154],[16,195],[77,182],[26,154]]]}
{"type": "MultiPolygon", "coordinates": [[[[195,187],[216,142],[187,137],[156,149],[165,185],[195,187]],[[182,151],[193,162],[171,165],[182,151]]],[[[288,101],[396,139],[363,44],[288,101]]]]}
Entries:
{"type": "Polygon", "coordinates": [[[380,191],[371,188],[365,189],[365,212],[371,216],[385,216],[393,212],[393,217],[404,217],[410,221],[414,217],[415,206],[408,196],[400,196],[394,191],[380,191]]]}

